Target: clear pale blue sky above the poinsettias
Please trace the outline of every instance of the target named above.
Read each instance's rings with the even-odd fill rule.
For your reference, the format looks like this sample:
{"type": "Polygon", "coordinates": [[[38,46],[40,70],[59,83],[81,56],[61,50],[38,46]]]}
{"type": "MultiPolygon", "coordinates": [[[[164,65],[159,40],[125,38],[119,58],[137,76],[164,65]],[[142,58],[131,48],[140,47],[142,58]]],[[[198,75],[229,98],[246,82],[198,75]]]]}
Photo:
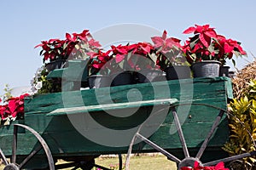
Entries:
{"type": "MultiPolygon", "coordinates": [[[[0,1],[0,95],[5,83],[12,88],[29,86],[43,65],[42,40],[64,38],[66,32],[133,23],[151,26],[185,40],[182,32],[195,24],[210,24],[219,34],[241,42],[253,61],[256,55],[256,1],[0,1]]],[[[155,36],[155,35],[152,35],[155,36]]],[[[237,67],[247,64],[237,59],[237,67]]]]}

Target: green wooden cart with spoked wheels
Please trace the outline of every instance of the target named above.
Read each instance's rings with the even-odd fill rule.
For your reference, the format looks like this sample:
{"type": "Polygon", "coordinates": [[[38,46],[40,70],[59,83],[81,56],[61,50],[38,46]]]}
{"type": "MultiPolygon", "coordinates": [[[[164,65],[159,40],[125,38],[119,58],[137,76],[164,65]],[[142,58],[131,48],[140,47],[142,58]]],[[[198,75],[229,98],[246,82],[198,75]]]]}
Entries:
{"type": "MultiPolygon", "coordinates": [[[[71,68],[49,77],[64,75],[71,68]]],[[[81,80],[83,74],[77,75],[81,80]]],[[[63,86],[71,87],[77,78],[67,78],[63,86]]],[[[94,161],[108,154],[127,154],[128,168],[132,152],[158,151],[176,161],[177,167],[193,166],[195,161],[209,166],[251,156],[254,152],[229,157],[222,150],[229,138],[226,110],[232,97],[228,77],[63,88],[62,93],[36,95],[25,99],[23,120],[0,127],[4,170],[108,169],[94,161]],[[55,165],[58,159],[68,163],[55,165]]]]}

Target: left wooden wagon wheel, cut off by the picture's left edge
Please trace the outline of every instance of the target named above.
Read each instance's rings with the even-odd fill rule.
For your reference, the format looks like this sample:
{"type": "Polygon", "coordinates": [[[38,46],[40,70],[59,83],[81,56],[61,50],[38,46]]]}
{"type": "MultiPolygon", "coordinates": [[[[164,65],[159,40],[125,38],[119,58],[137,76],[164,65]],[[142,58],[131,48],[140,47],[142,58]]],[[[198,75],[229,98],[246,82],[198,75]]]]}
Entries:
{"type": "Polygon", "coordinates": [[[38,151],[41,149],[44,149],[45,154],[47,156],[48,163],[49,163],[49,170],[55,170],[55,163],[54,163],[53,157],[50,153],[49,147],[46,144],[46,142],[44,141],[44,139],[40,136],[40,134],[37,133],[35,130],[33,130],[31,127],[27,127],[26,125],[22,125],[22,124],[15,124],[14,125],[14,140],[13,140],[13,144],[12,144],[12,156],[11,156],[10,162],[7,160],[6,156],[4,156],[3,150],[0,149],[0,156],[1,156],[1,158],[3,160],[3,164],[5,166],[3,168],[3,170],[20,170],[20,169],[22,169],[22,167],[24,167],[26,165],[26,163],[28,161],[30,161],[32,159],[32,157],[35,156],[38,153],[38,151]],[[26,158],[23,161],[21,161],[20,164],[18,164],[16,162],[18,127],[23,127],[26,130],[28,130],[30,133],[32,133],[38,139],[38,142],[40,142],[40,145],[36,149],[32,150],[32,152],[28,156],[26,156],[26,158]]]}

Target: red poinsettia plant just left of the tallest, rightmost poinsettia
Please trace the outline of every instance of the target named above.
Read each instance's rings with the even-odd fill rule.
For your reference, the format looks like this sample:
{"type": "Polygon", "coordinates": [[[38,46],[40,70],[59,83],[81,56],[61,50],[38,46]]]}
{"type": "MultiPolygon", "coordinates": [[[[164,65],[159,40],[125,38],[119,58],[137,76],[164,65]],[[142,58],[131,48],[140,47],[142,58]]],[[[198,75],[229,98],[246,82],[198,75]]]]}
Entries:
{"type": "Polygon", "coordinates": [[[156,64],[160,65],[162,71],[172,65],[188,65],[186,58],[183,54],[181,40],[175,37],[167,37],[167,31],[165,30],[162,37],[151,37],[154,42],[154,53],[156,55],[156,64]]]}

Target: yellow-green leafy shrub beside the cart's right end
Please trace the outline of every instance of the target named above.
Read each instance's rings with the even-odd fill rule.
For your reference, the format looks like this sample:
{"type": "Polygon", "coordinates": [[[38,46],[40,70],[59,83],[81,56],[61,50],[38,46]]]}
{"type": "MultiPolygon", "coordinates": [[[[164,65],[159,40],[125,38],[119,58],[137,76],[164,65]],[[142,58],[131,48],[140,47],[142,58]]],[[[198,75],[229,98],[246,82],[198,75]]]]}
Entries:
{"type": "MultiPolygon", "coordinates": [[[[247,92],[230,103],[230,140],[224,145],[224,150],[231,156],[256,150],[256,80],[249,82],[247,92]]],[[[241,164],[244,169],[253,169],[255,162],[254,157],[247,157],[241,164]]]]}

